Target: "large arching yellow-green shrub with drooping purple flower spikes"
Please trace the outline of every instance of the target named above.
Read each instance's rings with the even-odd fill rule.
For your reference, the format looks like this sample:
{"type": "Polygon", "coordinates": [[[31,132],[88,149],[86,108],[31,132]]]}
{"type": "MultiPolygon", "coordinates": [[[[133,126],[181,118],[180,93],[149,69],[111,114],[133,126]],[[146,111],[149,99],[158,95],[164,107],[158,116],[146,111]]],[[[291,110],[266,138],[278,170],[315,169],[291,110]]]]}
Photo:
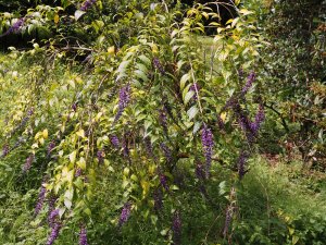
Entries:
{"type": "MultiPolygon", "coordinates": [[[[84,12],[92,7],[83,4],[84,12]]],[[[87,48],[89,66],[78,73],[55,46],[23,53],[43,60],[26,73],[32,82],[14,103],[25,109],[21,118],[27,108],[33,117],[22,128],[29,135],[26,160],[12,164],[26,180],[35,171],[33,216],[48,228],[46,244],[60,243],[61,232],[79,244],[198,243],[192,213],[209,234],[211,219],[220,231],[210,238],[201,233],[202,240],[233,240],[238,185],[265,118],[264,98],[255,95],[261,41],[254,15],[239,9],[227,26],[216,26],[208,46],[200,36],[203,5],[188,10],[181,23],[164,3],[140,5],[140,19],[116,24],[138,23],[137,33],[131,26],[122,40],[112,38],[112,25],[102,25],[95,48],[87,48]],[[67,72],[58,79],[51,71],[61,65],[67,72]],[[206,206],[218,215],[203,215],[206,206]]],[[[10,118],[3,128],[3,159],[16,152],[9,152],[7,134],[14,124],[10,118]]]]}

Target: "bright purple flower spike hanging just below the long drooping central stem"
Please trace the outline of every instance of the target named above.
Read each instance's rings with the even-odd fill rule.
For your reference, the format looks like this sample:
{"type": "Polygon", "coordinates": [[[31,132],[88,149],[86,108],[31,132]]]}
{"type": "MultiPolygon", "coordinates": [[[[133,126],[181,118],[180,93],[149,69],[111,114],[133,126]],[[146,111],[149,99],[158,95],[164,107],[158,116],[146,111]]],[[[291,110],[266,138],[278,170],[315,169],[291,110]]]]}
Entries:
{"type": "Polygon", "coordinates": [[[205,175],[206,175],[206,177],[209,177],[211,163],[212,163],[214,139],[213,139],[212,131],[206,125],[204,125],[202,128],[201,143],[202,143],[202,148],[203,148],[204,156],[206,159],[205,175]]]}

